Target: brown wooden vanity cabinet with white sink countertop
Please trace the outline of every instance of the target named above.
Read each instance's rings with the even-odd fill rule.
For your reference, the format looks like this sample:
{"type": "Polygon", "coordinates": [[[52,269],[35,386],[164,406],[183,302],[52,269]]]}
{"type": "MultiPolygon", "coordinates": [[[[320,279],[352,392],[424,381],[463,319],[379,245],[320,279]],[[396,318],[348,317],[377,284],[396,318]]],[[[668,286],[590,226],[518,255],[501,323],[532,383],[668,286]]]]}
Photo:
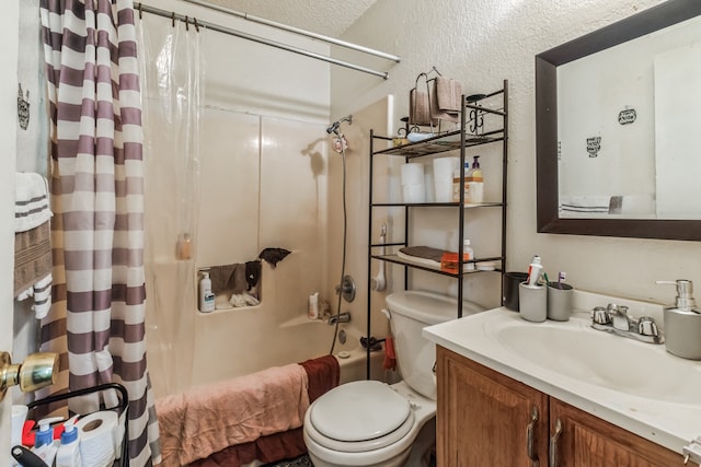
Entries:
{"type": "MultiPolygon", "coordinates": [[[[593,329],[588,310],[611,301],[577,292],[568,322],[502,307],[425,328],[439,465],[685,465],[701,435],[701,362],[593,329]]],[[[619,303],[662,324],[659,305],[619,303]]]]}

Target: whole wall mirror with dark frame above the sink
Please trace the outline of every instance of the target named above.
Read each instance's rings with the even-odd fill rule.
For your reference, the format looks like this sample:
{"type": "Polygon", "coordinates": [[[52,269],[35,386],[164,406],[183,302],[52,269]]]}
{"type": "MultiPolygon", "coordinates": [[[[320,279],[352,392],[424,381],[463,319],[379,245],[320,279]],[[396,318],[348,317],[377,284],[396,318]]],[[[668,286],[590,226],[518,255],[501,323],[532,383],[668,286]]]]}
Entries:
{"type": "Polygon", "coordinates": [[[538,232],[701,241],[701,1],[536,56],[538,232]]]}

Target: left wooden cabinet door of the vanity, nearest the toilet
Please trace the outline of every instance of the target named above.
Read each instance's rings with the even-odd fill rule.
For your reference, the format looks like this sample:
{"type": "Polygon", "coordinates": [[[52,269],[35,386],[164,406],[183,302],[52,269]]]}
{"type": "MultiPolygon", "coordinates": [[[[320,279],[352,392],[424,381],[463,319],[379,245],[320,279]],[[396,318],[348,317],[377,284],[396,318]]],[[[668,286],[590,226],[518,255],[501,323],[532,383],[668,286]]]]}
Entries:
{"type": "Polygon", "coordinates": [[[548,396],[438,347],[437,460],[441,467],[548,465],[548,396]],[[538,419],[532,422],[533,410],[538,419]]]}

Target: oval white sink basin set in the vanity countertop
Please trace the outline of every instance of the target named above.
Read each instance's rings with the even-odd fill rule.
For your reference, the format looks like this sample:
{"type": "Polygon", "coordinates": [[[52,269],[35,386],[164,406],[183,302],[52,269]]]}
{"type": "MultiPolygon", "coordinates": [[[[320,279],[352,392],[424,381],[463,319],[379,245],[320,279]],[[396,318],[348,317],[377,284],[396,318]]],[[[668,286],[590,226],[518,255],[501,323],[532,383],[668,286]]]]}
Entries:
{"type": "Polygon", "coordinates": [[[664,345],[599,331],[584,319],[487,322],[484,330],[515,358],[579,383],[657,401],[701,404],[701,371],[667,353],[664,345]]]}

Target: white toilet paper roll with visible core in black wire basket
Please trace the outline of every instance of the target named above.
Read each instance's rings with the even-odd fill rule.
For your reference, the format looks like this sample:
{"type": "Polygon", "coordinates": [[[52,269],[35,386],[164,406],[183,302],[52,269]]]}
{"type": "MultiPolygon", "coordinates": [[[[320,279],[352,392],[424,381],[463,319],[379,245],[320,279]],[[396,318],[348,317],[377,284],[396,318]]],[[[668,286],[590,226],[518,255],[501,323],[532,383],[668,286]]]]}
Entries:
{"type": "Polygon", "coordinates": [[[113,411],[100,411],[76,423],[80,440],[80,456],[84,466],[107,467],[116,459],[118,418],[113,411]]]}

